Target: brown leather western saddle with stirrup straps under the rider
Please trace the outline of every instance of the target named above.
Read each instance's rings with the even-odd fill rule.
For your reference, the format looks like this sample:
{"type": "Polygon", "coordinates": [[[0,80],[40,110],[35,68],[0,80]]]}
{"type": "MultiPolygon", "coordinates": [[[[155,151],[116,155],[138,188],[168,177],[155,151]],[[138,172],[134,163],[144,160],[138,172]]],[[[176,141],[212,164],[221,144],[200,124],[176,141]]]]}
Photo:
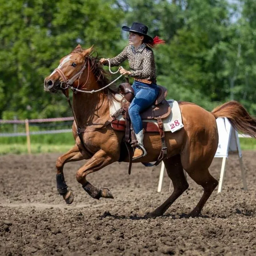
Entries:
{"type": "MultiPolygon", "coordinates": [[[[150,126],[150,122],[143,122],[143,127],[145,129],[145,132],[156,132],[159,131],[161,136],[161,152],[157,159],[157,161],[154,164],[150,163],[143,163],[145,166],[153,166],[158,165],[163,159],[167,156],[167,147],[165,143],[165,134],[164,134],[164,128],[163,128],[163,122],[162,119],[167,118],[171,114],[171,107],[167,100],[165,100],[165,97],[167,96],[167,89],[165,87],[162,87],[160,85],[157,85],[159,88],[159,94],[157,96],[156,101],[147,109],[145,109],[144,112],[140,113],[141,119],[156,119],[157,125],[155,124],[150,126]],[[154,129],[152,129],[154,127],[154,129]]],[[[134,90],[131,87],[129,83],[122,83],[119,85],[119,92],[124,96],[121,100],[121,109],[119,109],[119,113],[121,113],[125,119],[125,125],[124,127],[120,127],[119,121],[114,120],[112,121],[111,125],[113,129],[116,130],[123,130],[125,131],[124,136],[124,143],[128,150],[129,155],[129,169],[128,173],[131,174],[131,165],[132,165],[132,155],[133,155],[133,149],[137,146],[137,140],[135,133],[133,131],[131,120],[128,114],[128,108],[131,104],[133,98],[134,98],[134,90]]]]}

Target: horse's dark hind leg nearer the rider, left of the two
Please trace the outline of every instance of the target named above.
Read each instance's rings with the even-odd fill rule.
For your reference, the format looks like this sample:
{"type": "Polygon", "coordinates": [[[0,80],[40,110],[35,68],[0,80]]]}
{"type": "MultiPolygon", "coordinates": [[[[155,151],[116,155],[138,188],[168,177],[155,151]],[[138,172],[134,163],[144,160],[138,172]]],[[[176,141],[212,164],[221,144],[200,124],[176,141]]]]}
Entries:
{"type": "Polygon", "coordinates": [[[171,204],[188,188],[188,183],[181,165],[180,155],[175,155],[165,159],[164,165],[167,170],[167,174],[173,183],[172,195],[146,217],[162,216],[171,204]]]}

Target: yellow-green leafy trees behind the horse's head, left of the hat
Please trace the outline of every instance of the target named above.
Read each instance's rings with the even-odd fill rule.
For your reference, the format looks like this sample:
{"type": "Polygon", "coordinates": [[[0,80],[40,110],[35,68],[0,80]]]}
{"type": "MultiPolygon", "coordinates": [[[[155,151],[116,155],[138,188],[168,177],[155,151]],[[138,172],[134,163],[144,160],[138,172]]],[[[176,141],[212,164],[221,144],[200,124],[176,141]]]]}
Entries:
{"type": "Polygon", "coordinates": [[[77,43],[114,52],[123,13],[115,1],[0,0],[0,116],[71,115],[62,95],[43,94],[43,80],[77,43]],[[8,10],[8,11],[6,11],[8,10]]]}

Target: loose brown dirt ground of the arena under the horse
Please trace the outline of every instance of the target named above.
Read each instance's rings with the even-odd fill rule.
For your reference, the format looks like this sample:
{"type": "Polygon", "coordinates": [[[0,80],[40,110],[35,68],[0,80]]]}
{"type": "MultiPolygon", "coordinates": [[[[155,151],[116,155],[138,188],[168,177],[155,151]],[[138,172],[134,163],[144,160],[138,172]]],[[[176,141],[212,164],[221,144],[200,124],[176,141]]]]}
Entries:
{"type": "MultiPolygon", "coordinates": [[[[0,156],[0,255],[256,255],[256,152],[243,152],[248,191],[243,190],[237,155],[231,155],[223,184],[201,217],[184,218],[203,189],[189,188],[164,216],[145,219],[170,195],[165,173],[157,193],[160,165],[118,163],[88,176],[115,199],[92,199],[77,183],[84,163],[68,163],[65,180],[75,199],[66,205],[56,190],[58,154],[0,156]]],[[[210,172],[219,179],[221,159],[210,172]]]]}

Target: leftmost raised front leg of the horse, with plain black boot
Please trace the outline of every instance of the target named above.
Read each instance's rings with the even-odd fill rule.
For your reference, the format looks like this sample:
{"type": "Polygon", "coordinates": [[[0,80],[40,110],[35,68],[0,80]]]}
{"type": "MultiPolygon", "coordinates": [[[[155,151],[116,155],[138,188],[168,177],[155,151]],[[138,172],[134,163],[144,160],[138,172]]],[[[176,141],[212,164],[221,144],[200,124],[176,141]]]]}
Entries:
{"type": "Polygon", "coordinates": [[[86,159],[85,155],[82,155],[79,151],[77,145],[71,148],[67,153],[60,156],[56,161],[56,183],[57,183],[57,190],[59,191],[60,195],[63,196],[63,199],[67,204],[71,204],[73,202],[73,194],[71,190],[68,189],[68,186],[64,179],[63,168],[64,164],[68,162],[80,161],[86,159]]]}

